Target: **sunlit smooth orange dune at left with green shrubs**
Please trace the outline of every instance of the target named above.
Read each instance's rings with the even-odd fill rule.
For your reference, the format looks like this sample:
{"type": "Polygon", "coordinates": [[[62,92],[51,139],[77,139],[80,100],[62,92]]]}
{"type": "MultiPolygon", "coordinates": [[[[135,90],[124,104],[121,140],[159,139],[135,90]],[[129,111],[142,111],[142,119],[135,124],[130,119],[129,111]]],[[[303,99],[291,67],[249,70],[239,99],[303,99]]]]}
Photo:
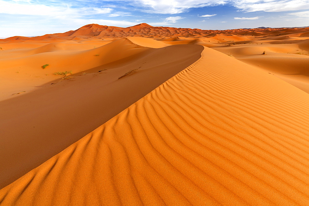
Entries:
{"type": "Polygon", "coordinates": [[[100,70],[97,69],[99,66],[121,61],[147,49],[133,44],[128,39],[119,39],[98,48],[91,46],[92,49],[89,49],[87,44],[85,46],[80,45],[80,48],[86,49],[85,51],[63,52],[53,48],[55,50],[51,52],[50,48],[53,48],[53,43],[51,46],[45,45],[21,52],[27,56],[0,60],[2,65],[0,74],[5,77],[5,81],[14,83],[4,85],[4,90],[2,90],[0,96],[2,100],[11,98],[11,94],[21,90],[33,91],[36,86],[46,84],[52,80],[55,80],[55,82],[61,80],[62,76],[54,75],[55,72],[72,71],[73,74],[82,74],[82,72],[89,72],[88,70],[91,68],[96,68],[95,72],[97,72],[100,70]],[[42,69],[45,64],[49,64],[49,66],[42,69]]]}

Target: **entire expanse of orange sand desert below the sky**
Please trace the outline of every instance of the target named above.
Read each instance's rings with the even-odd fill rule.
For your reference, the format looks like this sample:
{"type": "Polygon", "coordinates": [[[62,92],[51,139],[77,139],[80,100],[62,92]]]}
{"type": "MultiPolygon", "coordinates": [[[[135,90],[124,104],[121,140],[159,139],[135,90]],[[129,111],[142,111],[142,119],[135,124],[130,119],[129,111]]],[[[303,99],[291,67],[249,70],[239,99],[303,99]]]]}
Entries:
{"type": "Polygon", "coordinates": [[[309,28],[0,47],[0,205],[308,204],[309,28]]]}

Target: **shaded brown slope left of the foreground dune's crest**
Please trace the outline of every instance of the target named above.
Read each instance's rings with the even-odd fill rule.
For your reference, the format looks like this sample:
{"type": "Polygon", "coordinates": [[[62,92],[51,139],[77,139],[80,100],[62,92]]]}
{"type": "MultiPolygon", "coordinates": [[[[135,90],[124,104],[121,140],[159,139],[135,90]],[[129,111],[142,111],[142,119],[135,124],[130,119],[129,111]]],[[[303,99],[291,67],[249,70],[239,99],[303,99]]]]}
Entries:
{"type": "MultiPolygon", "coordinates": [[[[199,45],[156,49],[133,44],[128,39],[119,41],[94,49],[97,51],[70,54],[70,58],[78,59],[79,67],[88,67],[84,68],[86,74],[60,78],[61,81],[53,81],[55,84],[49,82],[33,92],[0,101],[0,116],[5,120],[0,121],[0,188],[44,163],[193,64],[203,50],[199,45]],[[119,46],[119,41],[123,47],[119,46]],[[117,47],[113,47],[115,43],[117,47]],[[101,56],[93,56],[98,51],[101,56]],[[116,51],[118,55],[113,56],[116,51]],[[92,62],[92,58],[96,61],[92,62]]],[[[66,56],[62,58],[64,62],[66,56]]],[[[58,64],[60,61],[61,58],[58,64]]],[[[57,68],[46,68],[52,69],[57,68]]]]}

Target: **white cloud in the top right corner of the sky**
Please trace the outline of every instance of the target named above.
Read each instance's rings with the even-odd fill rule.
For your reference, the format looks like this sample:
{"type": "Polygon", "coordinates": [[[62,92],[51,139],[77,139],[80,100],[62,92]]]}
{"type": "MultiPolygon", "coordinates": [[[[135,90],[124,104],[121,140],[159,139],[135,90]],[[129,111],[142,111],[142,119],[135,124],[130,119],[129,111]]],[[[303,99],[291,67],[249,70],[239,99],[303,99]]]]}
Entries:
{"type": "Polygon", "coordinates": [[[233,0],[232,4],[247,12],[278,12],[309,9],[308,0],[233,0]]]}

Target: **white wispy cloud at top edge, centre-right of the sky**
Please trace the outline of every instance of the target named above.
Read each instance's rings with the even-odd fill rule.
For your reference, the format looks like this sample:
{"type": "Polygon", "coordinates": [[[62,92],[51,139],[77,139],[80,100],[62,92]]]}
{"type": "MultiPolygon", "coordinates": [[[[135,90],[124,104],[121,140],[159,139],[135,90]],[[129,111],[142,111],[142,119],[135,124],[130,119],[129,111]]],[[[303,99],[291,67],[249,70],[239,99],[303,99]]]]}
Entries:
{"type": "Polygon", "coordinates": [[[228,0],[131,0],[136,6],[144,7],[143,11],[155,14],[179,14],[192,8],[222,5],[228,0]]]}

